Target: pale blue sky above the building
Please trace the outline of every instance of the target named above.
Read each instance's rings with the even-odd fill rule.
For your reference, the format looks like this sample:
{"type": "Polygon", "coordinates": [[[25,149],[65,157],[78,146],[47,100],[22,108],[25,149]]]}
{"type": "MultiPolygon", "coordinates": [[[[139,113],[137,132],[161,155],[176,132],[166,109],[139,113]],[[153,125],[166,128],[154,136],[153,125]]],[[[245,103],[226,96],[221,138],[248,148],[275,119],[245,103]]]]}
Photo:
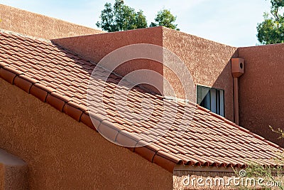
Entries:
{"type": "MultiPolygon", "coordinates": [[[[178,16],[181,31],[230,46],[255,46],[256,24],[263,21],[263,12],[269,11],[269,0],[124,0],[146,15],[148,23],[160,9],[170,9],[178,16]]],[[[114,0],[0,0],[0,4],[55,17],[83,26],[97,28],[99,15],[106,2],[114,0]]]]}

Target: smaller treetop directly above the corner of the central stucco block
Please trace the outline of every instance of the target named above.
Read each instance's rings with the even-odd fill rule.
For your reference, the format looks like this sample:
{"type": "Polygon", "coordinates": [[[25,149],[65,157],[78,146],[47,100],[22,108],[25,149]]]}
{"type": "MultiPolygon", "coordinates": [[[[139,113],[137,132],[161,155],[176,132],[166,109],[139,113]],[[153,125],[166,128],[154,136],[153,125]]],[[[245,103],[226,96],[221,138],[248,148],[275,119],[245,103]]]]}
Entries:
{"type": "Polygon", "coordinates": [[[155,23],[152,22],[150,27],[165,26],[167,28],[172,28],[179,31],[180,29],[177,28],[178,24],[175,24],[176,19],[177,17],[173,16],[168,9],[163,9],[158,11],[157,16],[155,17],[155,23]]]}

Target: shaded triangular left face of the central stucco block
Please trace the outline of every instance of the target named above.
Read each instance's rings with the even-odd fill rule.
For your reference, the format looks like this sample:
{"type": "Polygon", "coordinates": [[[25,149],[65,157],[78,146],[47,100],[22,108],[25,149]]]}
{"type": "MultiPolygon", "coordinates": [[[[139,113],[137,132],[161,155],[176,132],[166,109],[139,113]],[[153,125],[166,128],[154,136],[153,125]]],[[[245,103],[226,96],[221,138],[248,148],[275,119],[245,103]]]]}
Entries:
{"type": "MultiPolygon", "coordinates": [[[[143,69],[153,70],[156,73],[163,75],[163,65],[155,61],[157,59],[163,60],[163,53],[161,49],[157,50],[155,48],[155,51],[148,52],[147,48],[128,48],[127,50],[124,49],[123,51],[119,51],[121,53],[117,53],[119,48],[139,43],[152,44],[162,47],[162,27],[143,28],[112,33],[99,33],[96,35],[76,36],[72,38],[60,38],[54,39],[53,43],[67,48],[68,50],[77,53],[87,60],[92,60],[94,63],[99,63],[102,58],[107,55],[109,56],[109,53],[116,51],[116,53],[111,54],[112,56],[107,58],[110,66],[104,65],[104,68],[111,70],[111,64],[114,64],[114,61],[121,63],[119,67],[115,68],[114,72],[122,76],[126,76],[129,73],[133,74],[134,70],[143,69]],[[138,51],[135,51],[137,49],[138,51]],[[141,51],[146,52],[142,54],[148,54],[149,57],[153,57],[155,60],[145,58],[142,59],[141,54],[139,54],[141,51]],[[111,60],[112,58],[114,58],[114,60],[111,60]]],[[[139,84],[141,81],[145,82],[149,78],[152,78],[152,76],[153,75],[151,75],[151,73],[136,73],[133,76],[129,75],[129,80],[133,83],[139,84]]],[[[158,85],[156,85],[155,88],[152,88],[150,85],[143,85],[143,87],[153,90],[155,93],[163,93],[163,80],[160,78],[155,78],[155,80],[152,80],[151,82],[152,85],[158,85]]]]}

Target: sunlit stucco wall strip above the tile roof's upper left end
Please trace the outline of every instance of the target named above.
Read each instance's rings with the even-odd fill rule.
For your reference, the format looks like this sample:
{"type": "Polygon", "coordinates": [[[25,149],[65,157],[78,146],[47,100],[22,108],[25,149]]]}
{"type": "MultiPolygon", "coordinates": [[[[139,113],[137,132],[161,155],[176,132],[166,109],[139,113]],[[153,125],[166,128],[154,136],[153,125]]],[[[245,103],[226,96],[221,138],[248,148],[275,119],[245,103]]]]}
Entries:
{"type": "Polygon", "coordinates": [[[94,28],[87,28],[3,4],[0,4],[0,18],[2,20],[0,22],[1,29],[38,38],[53,39],[104,33],[104,31],[94,28]]]}

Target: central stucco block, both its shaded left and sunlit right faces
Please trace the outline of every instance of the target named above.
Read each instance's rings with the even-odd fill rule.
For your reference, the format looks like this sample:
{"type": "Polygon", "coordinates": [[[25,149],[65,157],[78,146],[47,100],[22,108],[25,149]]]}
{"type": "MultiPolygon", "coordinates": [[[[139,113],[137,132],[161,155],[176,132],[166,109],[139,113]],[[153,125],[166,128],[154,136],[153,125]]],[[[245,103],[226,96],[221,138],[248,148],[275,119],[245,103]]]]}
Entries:
{"type": "MultiPolygon", "coordinates": [[[[104,56],[107,56],[112,51],[133,44],[143,43],[165,48],[173,52],[185,63],[184,65],[188,68],[190,75],[192,75],[195,85],[205,85],[224,90],[226,119],[234,120],[233,78],[230,61],[232,57],[238,56],[237,48],[235,47],[226,46],[162,26],[60,38],[54,39],[53,43],[87,60],[92,60],[94,63],[99,63],[104,56]]],[[[160,52],[160,56],[163,57],[163,60],[165,59],[162,51],[160,52]]],[[[129,73],[131,74],[134,70],[143,69],[153,70],[162,75],[172,85],[173,90],[175,90],[175,96],[181,99],[185,98],[185,89],[177,77],[179,73],[174,73],[171,69],[165,68],[164,65],[157,61],[146,59],[127,61],[119,65],[114,72],[124,77],[129,73]]],[[[183,74],[179,76],[182,78],[183,74]]],[[[145,78],[145,75],[135,75],[135,78],[130,78],[129,80],[133,83],[139,83],[139,81],[145,81],[145,78]]],[[[148,79],[151,79],[151,77],[148,79]]],[[[148,90],[168,97],[172,90],[166,88],[168,85],[165,83],[165,80],[152,81],[153,83],[151,84],[155,84],[160,88],[159,92],[155,89],[150,89],[149,85],[144,85],[142,82],[141,84],[143,88],[148,88],[148,90]]],[[[191,96],[191,94],[187,95],[187,97],[191,96]]]]}

